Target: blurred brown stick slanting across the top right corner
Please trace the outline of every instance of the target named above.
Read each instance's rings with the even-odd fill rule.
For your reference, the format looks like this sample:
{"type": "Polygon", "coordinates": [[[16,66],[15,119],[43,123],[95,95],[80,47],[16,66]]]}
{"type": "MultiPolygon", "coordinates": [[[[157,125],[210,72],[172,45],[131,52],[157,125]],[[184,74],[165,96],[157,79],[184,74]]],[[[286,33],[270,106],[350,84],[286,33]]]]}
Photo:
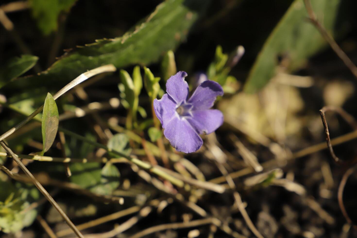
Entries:
{"type": "Polygon", "coordinates": [[[346,55],[346,53],[341,49],[340,46],[336,43],[333,37],[326,31],[325,27],[318,21],[315,12],[312,9],[310,0],[304,0],[307,14],[309,15],[309,20],[311,23],[320,31],[322,37],[330,44],[331,49],[335,51],[336,55],[340,57],[343,63],[350,69],[352,74],[357,78],[357,67],[351,59],[346,55]]]}

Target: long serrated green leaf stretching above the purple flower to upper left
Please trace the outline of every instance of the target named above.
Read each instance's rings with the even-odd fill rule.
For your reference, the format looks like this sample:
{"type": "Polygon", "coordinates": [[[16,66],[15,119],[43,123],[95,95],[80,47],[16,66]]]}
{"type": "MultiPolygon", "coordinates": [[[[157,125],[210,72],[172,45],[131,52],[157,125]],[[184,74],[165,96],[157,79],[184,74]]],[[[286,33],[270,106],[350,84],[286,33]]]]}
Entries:
{"type": "Polygon", "coordinates": [[[15,86],[23,88],[69,82],[86,70],[105,64],[114,64],[118,69],[133,64],[148,65],[157,61],[163,52],[176,49],[186,39],[188,30],[209,2],[164,1],[122,37],[97,40],[93,44],[78,47],[62,56],[42,74],[21,79],[15,86]]]}

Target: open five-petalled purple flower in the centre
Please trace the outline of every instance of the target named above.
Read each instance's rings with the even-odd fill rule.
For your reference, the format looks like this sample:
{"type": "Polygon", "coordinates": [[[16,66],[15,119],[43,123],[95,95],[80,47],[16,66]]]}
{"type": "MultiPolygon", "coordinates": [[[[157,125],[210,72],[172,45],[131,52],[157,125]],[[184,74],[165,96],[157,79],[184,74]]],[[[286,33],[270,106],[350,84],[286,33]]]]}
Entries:
{"type": "Polygon", "coordinates": [[[209,134],[223,123],[223,114],[210,109],[223,89],[217,82],[202,82],[188,99],[186,72],[180,71],[166,82],[166,91],[160,100],[154,100],[154,110],[164,135],[177,151],[191,153],[202,146],[198,134],[209,134]]]}

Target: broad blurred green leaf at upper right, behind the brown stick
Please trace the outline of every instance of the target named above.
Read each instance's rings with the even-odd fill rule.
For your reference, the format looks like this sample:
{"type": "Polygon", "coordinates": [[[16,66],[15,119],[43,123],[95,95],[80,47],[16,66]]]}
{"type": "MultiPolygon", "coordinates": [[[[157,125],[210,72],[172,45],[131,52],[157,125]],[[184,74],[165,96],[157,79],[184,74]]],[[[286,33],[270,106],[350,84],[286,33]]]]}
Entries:
{"type": "MultiPolygon", "coordinates": [[[[311,1],[312,8],[327,31],[334,33],[341,0],[311,1]]],[[[253,93],[264,87],[274,76],[278,56],[287,55],[289,71],[299,69],[308,57],[327,45],[320,32],[307,20],[302,0],[295,0],[272,31],[258,55],[245,84],[253,93]]]]}

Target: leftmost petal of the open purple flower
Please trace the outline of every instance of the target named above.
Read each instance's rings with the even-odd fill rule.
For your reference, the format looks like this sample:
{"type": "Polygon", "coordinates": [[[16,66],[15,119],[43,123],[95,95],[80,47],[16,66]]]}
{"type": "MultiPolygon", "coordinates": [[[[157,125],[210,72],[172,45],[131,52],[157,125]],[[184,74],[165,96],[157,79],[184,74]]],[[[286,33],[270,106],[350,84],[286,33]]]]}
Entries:
{"type": "Polygon", "coordinates": [[[171,119],[175,116],[176,112],[176,102],[165,93],[162,95],[160,100],[155,98],[154,100],[154,111],[159,118],[162,128],[165,128],[167,123],[171,121],[171,119]]]}

